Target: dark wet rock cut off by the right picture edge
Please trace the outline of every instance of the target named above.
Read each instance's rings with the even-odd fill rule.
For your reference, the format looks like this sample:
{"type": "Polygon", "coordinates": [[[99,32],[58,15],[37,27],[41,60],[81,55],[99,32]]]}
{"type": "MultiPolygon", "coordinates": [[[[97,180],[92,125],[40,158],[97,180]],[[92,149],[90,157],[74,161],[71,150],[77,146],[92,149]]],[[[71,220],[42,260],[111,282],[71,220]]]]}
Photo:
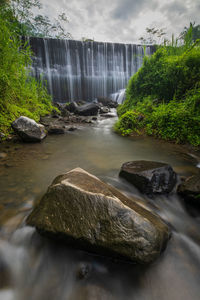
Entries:
{"type": "Polygon", "coordinates": [[[187,178],[178,186],[177,193],[189,204],[200,208],[200,174],[187,178]]]}

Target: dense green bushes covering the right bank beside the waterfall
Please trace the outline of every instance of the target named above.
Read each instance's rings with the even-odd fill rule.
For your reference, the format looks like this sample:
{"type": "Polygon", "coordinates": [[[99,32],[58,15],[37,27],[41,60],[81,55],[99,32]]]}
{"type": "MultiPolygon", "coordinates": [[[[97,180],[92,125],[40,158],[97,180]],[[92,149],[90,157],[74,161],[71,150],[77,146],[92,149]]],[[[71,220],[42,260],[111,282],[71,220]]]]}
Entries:
{"type": "Polygon", "coordinates": [[[184,45],[159,46],[132,76],[115,130],[200,145],[200,46],[191,26],[184,45]]]}

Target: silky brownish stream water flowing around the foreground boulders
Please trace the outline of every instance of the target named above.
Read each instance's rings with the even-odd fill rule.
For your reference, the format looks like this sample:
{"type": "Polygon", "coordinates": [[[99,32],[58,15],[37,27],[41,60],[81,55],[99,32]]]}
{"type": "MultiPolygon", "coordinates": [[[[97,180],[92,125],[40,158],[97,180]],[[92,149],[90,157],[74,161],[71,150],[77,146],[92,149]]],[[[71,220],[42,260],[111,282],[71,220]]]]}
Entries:
{"type": "MultiPolygon", "coordinates": [[[[198,172],[181,146],[147,137],[124,138],[116,119],[75,132],[48,136],[41,144],[1,145],[0,300],[197,300],[200,295],[200,214],[174,193],[143,197],[118,177],[123,162],[155,160],[179,175],[198,172]],[[81,167],[158,213],[172,229],[166,251],[152,265],[111,261],[40,237],[25,225],[35,201],[52,180],[81,167]],[[86,278],[77,276],[86,264],[86,278]]],[[[78,220],[77,220],[78,222],[78,220]]]]}

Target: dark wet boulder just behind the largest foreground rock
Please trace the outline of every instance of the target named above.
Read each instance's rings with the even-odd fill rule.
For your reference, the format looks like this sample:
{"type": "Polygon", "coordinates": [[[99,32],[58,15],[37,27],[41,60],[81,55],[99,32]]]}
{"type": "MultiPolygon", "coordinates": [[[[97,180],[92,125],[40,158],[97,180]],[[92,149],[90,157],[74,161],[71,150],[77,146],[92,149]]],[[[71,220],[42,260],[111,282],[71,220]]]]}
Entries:
{"type": "Polygon", "coordinates": [[[176,184],[176,173],[172,167],[154,161],[126,162],[119,175],[145,194],[169,193],[176,184]]]}

